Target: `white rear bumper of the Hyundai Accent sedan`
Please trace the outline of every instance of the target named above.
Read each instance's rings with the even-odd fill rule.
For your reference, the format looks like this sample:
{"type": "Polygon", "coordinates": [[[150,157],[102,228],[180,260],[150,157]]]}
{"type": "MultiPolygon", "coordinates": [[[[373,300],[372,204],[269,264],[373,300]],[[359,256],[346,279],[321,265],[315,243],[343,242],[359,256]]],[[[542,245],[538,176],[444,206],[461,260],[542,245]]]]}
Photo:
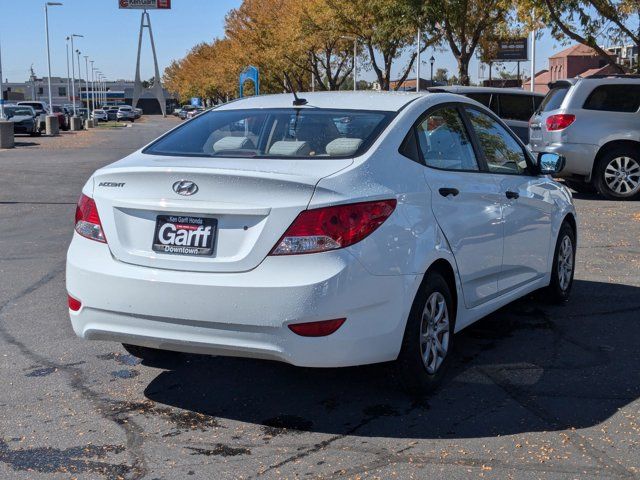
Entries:
{"type": "Polygon", "coordinates": [[[308,367],[395,359],[419,281],[371,275],[344,250],[268,257],[244,273],[130,265],[77,234],[67,255],[67,290],[82,302],[70,311],[79,337],[308,367]],[[327,337],[287,327],[345,317],[327,337]]]}

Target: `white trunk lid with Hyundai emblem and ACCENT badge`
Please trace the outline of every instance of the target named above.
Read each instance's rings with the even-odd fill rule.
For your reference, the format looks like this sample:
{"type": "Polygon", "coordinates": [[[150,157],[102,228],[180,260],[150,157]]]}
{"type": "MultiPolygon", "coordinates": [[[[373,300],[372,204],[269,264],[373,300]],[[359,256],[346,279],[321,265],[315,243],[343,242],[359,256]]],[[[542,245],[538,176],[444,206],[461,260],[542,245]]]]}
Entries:
{"type": "MultiPolygon", "coordinates": [[[[243,272],[257,267],[298,213],[318,181],[352,163],[341,160],[193,158],[141,153],[94,175],[96,202],[113,256],[135,265],[196,272],[243,272]],[[188,180],[190,196],[173,190],[188,180]],[[213,219],[213,253],[155,251],[156,219],[213,219]]],[[[191,221],[191,220],[189,220],[191,221]]]]}

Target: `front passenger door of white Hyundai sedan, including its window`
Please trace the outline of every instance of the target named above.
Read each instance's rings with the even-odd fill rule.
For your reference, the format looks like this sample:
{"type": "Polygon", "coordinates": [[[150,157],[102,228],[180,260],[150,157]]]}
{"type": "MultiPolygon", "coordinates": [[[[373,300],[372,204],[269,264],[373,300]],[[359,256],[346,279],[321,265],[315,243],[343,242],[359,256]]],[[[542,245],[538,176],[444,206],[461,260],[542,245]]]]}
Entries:
{"type": "Polygon", "coordinates": [[[474,107],[466,111],[488,176],[500,191],[504,248],[498,292],[502,294],[547,273],[555,209],[552,192],[557,187],[534,173],[525,147],[499,120],[474,107]]]}

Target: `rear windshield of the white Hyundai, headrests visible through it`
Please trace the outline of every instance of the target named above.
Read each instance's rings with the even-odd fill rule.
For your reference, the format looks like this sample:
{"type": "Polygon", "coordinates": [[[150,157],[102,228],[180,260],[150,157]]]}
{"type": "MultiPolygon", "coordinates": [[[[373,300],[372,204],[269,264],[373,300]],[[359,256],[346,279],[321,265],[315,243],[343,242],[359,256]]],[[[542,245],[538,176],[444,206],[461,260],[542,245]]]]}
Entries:
{"type": "Polygon", "coordinates": [[[361,155],[394,112],[329,109],[211,110],[144,150],[154,155],[342,158],[361,155]]]}

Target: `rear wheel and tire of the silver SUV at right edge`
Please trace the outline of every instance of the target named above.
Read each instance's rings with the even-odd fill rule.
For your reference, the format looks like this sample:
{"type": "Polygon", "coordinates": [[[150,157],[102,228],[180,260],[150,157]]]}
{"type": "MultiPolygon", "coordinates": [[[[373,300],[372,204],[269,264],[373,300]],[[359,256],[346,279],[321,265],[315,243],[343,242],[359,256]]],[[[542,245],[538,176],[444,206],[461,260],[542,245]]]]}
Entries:
{"type": "Polygon", "coordinates": [[[640,198],[640,149],[613,148],[594,169],[594,185],[609,200],[640,198]]]}

